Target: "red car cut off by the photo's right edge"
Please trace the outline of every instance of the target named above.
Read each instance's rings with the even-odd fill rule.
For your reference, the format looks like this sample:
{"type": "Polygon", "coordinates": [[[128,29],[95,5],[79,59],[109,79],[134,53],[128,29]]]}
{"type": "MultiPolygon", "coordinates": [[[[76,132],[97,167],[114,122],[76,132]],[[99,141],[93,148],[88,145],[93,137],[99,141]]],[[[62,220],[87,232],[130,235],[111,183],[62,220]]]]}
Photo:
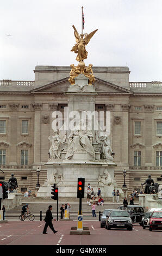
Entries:
{"type": "Polygon", "coordinates": [[[154,211],[149,219],[149,231],[162,229],[162,211],[154,211]]]}

